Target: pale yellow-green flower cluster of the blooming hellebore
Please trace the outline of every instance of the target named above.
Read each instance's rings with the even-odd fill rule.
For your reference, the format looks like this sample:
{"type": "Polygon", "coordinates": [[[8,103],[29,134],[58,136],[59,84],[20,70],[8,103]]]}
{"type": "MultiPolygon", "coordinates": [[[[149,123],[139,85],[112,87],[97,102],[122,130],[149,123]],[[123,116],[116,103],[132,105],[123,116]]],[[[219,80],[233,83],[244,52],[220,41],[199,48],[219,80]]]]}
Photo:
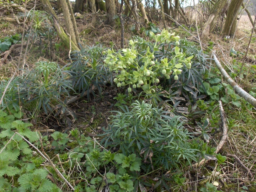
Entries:
{"type": "Polygon", "coordinates": [[[163,29],[161,34],[155,35],[150,32],[151,38],[155,41],[153,47],[147,47],[146,50],[141,52],[137,51],[137,47],[140,47],[138,41],[129,41],[129,47],[121,49],[118,52],[114,52],[112,49],[108,49],[107,57],[105,58],[105,66],[109,67],[109,70],[115,73],[115,79],[113,80],[117,87],[128,86],[128,92],[132,91],[132,88],[136,89],[142,87],[146,94],[155,93],[159,78],[169,79],[173,74],[174,79],[178,79],[178,75],[182,72],[181,68],[183,64],[187,68],[191,67],[191,59],[193,56],[185,58],[185,54],[180,52],[179,36],[174,36],[175,33],[169,33],[166,29],[163,29]],[[161,60],[155,59],[157,51],[163,44],[169,44],[175,41],[175,47],[171,50],[173,55],[170,58],[163,58],[161,60]]]}

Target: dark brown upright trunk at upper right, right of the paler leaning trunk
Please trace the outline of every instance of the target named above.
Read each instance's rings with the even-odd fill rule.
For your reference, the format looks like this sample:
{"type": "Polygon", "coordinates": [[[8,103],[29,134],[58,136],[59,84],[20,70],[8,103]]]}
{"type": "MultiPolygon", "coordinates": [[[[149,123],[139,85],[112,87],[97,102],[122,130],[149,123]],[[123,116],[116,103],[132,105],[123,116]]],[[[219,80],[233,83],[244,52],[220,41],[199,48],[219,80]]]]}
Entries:
{"type": "Polygon", "coordinates": [[[237,14],[243,3],[243,0],[231,0],[230,6],[227,10],[227,19],[222,34],[232,37],[235,35],[237,14]]]}

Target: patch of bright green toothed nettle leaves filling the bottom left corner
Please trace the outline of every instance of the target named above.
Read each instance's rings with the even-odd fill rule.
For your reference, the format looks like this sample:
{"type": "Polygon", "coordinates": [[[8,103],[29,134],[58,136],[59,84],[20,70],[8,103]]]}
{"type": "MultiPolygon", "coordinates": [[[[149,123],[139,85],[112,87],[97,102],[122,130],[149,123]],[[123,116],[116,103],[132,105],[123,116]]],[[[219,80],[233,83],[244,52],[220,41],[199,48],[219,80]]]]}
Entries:
{"type": "Polygon", "coordinates": [[[28,143],[20,137],[26,137],[31,143],[38,140],[38,134],[29,129],[32,124],[15,120],[20,116],[20,112],[7,115],[0,110],[0,191],[60,191],[47,179],[47,170],[38,169],[34,161],[38,157],[33,157],[28,143]],[[9,183],[13,177],[16,178],[14,186],[9,183]]]}

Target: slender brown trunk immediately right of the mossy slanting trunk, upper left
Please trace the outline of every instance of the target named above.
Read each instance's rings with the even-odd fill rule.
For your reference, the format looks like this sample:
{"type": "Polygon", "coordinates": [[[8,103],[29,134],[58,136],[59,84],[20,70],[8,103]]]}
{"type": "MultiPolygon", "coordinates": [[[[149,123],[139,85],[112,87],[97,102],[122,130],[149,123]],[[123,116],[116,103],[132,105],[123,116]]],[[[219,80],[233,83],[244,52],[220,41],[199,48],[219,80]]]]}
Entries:
{"type": "Polygon", "coordinates": [[[71,15],[73,16],[73,20],[71,20],[72,16],[70,17],[70,9],[69,9],[70,1],[69,0],[60,0],[60,2],[61,2],[62,10],[63,10],[63,15],[64,15],[65,23],[66,23],[67,32],[71,36],[71,40],[76,44],[76,46],[78,46],[78,42],[79,42],[79,38],[77,38],[78,31],[76,28],[76,20],[75,20],[75,17],[74,17],[74,14],[72,11],[71,11],[71,15]],[[68,6],[68,4],[69,4],[69,6],[68,6]]]}

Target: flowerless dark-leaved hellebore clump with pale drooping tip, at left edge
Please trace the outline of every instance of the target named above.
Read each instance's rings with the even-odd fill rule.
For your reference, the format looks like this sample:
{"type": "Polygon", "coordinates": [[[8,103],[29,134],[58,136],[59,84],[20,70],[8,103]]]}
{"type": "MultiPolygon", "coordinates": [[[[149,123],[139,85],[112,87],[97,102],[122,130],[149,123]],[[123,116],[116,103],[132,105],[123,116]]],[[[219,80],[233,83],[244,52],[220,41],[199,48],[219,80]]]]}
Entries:
{"type": "MultiPolygon", "coordinates": [[[[1,93],[7,83],[2,82],[1,93]]],[[[18,76],[12,81],[2,106],[3,109],[11,107],[18,110],[21,103],[31,103],[32,113],[43,108],[48,114],[56,104],[64,105],[61,98],[69,96],[70,90],[73,90],[73,87],[68,79],[68,73],[64,73],[55,62],[39,61],[35,63],[34,69],[24,70],[23,76],[18,76]]]]}

